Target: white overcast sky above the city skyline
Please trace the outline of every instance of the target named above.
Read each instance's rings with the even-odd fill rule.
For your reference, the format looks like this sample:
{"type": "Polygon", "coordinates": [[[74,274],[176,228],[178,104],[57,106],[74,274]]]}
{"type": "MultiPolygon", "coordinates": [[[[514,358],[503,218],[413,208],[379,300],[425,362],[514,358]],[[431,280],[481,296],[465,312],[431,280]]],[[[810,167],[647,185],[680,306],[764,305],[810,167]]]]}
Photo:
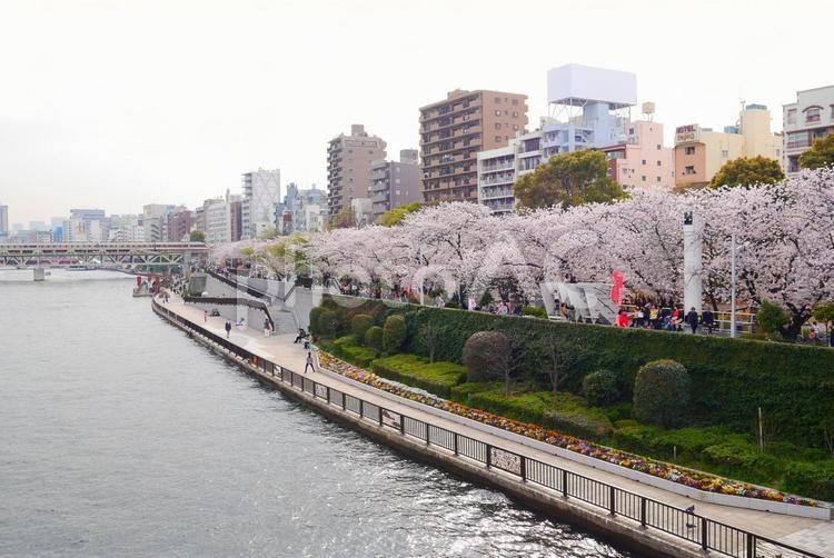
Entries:
{"type": "Polygon", "coordinates": [[[780,130],[834,83],[832,20],[830,0],[0,0],[0,203],[23,223],[193,207],[258,167],[325,187],[351,123],[396,156],[458,87],[526,93],[536,122],[569,62],[635,72],[667,142],[742,100],[780,130]]]}

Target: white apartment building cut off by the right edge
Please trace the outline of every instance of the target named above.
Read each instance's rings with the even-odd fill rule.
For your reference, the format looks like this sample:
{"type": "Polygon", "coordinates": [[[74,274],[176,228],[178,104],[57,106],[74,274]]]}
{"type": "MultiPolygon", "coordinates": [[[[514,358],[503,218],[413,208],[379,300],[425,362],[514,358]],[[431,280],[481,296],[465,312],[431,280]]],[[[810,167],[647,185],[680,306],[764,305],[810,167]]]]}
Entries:
{"type": "Polygon", "coordinates": [[[815,140],[834,133],[834,86],[796,92],[796,102],[782,107],[783,168],[787,176],[800,172],[800,156],[815,140]]]}

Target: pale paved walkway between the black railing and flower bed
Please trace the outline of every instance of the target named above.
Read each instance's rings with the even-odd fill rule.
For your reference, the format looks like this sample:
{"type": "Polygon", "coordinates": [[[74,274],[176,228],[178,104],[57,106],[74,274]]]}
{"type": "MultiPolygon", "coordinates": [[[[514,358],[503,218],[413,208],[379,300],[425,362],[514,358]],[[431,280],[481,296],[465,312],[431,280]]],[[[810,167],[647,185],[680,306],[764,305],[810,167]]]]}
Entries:
{"type": "MultiPolygon", "coordinates": [[[[208,317],[203,321],[203,312],[201,309],[185,305],[182,300],[176,296],[172,296],[165,307],[170,311],[199,323],[218,336],[226,337],[226,331],[224,329],[226,319],[222,317],[208,317]]],[[[304,371],[307,352],[301,345],[292,343],[295,335],[277,335],[265,338],[262,337],[262,332],[256,331],[251,328],[232,328],[229,339],[244,349],[280,363],[287,369],[296,372],[304,371]]],[[[834,521],[823,521],[767,511],[748,510],[708,502],[694,502],[685,496],[669,492],[662,488],[646,486],[612,472],[563,459],[529,446],[523,446],[512,440],[474,429],[455,420],[456,416],[454,415],[446,413],[449,416],[449,418],[446,419],[438,417],[436,413],[429,413],[419,408],[415,408],[414,402],[409,402],[410,405],[406,406],[401,402],[403,400],[400,398],[370,387],[356,385],[355,382],[346,379],[342,380],[328,373],[309,372],[308,376],[310,379],[319,383],[359,397],[375,405],[383,406],[395,412],[400,412],[448,430],[455,430],[460,435],[526,455],[543,462],[548,462],[578,475],[597,479],[624,490],[665,502],[669,506],[686,508],[695,504],[696,512],[709,519],[745,529],[763,537],[782,540],[788,545],[805,548],[823,556],[834,557],[834,521]]]]}

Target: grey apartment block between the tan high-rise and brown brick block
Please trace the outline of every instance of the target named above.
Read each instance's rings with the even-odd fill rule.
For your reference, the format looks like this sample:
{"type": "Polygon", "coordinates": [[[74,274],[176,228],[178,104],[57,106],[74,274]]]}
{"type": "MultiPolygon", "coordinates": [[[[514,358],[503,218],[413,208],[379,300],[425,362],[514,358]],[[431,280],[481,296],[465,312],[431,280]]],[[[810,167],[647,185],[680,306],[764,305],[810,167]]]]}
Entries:
{"type": "Polygon", "coordinates": [[[370,190],[374,221],[388,210],[423,201],[420,165],[416,149],[403,149],[399,161],[374,161],[370,166],[370,190]]]}

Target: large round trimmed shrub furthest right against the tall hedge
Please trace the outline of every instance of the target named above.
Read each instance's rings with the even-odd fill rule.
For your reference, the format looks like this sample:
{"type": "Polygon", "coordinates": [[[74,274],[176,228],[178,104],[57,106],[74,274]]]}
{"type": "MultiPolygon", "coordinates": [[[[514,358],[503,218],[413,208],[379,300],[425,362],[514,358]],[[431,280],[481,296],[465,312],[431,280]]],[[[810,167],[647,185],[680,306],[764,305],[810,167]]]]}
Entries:
{"type": "Polygon", "coordinates": [[[689,375],[674,360],[643,365],[634,380],[634,416],[664,428],[681,425],[689,403],[689,375]]]}

